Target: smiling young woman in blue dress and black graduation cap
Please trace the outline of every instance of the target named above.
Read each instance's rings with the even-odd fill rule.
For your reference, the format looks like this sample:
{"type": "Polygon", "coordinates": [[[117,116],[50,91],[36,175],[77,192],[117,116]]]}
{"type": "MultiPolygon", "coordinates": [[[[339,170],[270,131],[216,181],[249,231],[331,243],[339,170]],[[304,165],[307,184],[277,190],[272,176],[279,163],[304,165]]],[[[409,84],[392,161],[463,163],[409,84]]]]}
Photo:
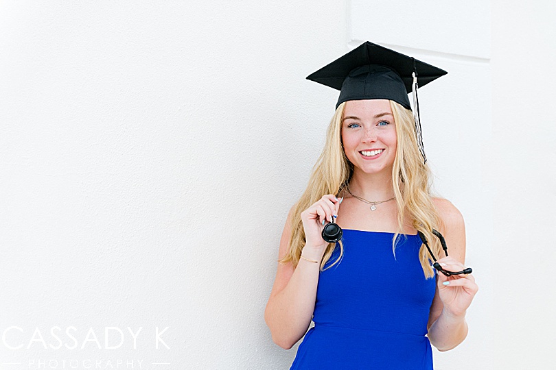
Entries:
{"type": "Polygon", "coordinates": [[[408,101],[414,72],[421,86],[445,74],[366,42],[308,77],[340,99],[288,215],[265,310],[280,347],[305,335],[291,369],[432,369],[431,343],[445,351],[467,335],[478,288],[463,265],[460,212],[430,195],[418,104],[414,115],[408,101]],[[330,222],[343,229],[338,243],[323,239],[330,222]]]}

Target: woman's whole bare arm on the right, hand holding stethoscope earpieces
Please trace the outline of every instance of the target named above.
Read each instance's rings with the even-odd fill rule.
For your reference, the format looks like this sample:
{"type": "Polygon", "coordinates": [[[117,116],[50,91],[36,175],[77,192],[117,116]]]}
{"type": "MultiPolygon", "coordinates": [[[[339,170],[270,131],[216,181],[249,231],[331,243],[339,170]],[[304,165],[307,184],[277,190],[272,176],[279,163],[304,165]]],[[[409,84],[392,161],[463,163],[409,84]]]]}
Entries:
{"type": "MultiPolygon", "coordinates": [[[[457,208],[445,199],[435,199],[443,221],[441,233],[448,244],[450,257],[439,258],[445,269],[460,271],[465,262],[465,224],[457,208]]],[[[428,338],[439,351],[448,351],[467,336],[465,312],[478,290],[472,275],[447,277],[437,275],[437,291],[432,300],[428,320],[428,338]],[[449,282],[448,285],[443,283],[449,282]]]]}

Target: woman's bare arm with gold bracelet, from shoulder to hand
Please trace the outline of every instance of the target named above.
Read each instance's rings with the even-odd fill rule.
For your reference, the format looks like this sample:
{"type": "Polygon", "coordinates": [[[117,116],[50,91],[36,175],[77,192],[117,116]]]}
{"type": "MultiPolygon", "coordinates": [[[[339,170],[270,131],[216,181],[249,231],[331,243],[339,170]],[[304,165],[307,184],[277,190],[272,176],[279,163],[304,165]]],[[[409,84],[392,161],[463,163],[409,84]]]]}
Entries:
{"type": "MultiPolygon", "coordinates": [[[[325,195],[325,197],[329,196],[325,195]]],[[[335,199],[334,195],[332,198],[335,199]]],[[[301,214],[307,239],[301,255],[309,260],[318,261],[318,263],[301,258],[295,269],[291,262],[279,263],[273,290],[264,311],[264,321],[270,328],[273,341],[284,349],[290,349],[297,343],[305,335],[311,323],[320,262],[327,247],[327,243],[321,238],[318,230],[322,230],[321,221],[325,217],[329,218],[332,217],[332,214],[337,214],[337,206],[335,206],[337,201],[323,199],[301,214]],[[319,203],[321,204],[319,205],[319,203]],[[321,215],[319,216],[319,214],[321,215]]],[[[280,259],[286,256],[290,243],[291,213],[280,240],[280,259]]]]}

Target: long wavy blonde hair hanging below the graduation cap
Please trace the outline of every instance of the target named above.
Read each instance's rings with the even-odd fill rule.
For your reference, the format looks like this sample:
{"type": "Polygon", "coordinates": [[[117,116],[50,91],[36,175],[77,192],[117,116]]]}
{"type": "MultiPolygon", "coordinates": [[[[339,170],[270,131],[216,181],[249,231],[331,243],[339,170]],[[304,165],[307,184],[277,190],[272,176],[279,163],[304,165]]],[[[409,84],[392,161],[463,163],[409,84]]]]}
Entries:
{"type": "MultiPolygon", "coordinates": [[[[390,107],[394,116],[397,136],[392,183],[397,204],[398,228],[399,231],[402,231],[404,230],[406,219],[412,221],[413,227],[424,234],[432,252],[438,256],[441,251],[441,245],[431,230],[433,228],[438,230],[441,220],[430,196],[430,170],[424,163],[417,147],[413,113],[395,101],[390,101],[390,107]]],[[[325,147],[313,167],[309,184],[299,201],[292,208],[290,217],[292,230],[290,245],[288,253],[280,262],[292,262],[294,267],[297,266],[301,251],[305,245],[305,232],[301,222],[301,212],[309,208],[318,199],[321,199],[323,195],[337,195],[347,186],[354,172],[353,165],[347,160],[342,145],[341,132],[344,110],[345,103],[341,103],[328,126],[325,147]]],[[[396,232],[392,240],[394,252],[399,234],[401,233],[396,232]]],[[[343,244],[341,241],[339,245],[340,256],[326,269],[338,263],[343,256],[343,244]]],[[[327,264],[332,256],[334,247],[334,243],[327,245],[321,262],[321,271],[325,269],[325,264],[327,264]]],[[[430,257],[424,245],[421,245],[419,250],[419,260],[421,261],[421,267],[425,276],[434,277],[432,267],[430,267],[430,257]]]]}

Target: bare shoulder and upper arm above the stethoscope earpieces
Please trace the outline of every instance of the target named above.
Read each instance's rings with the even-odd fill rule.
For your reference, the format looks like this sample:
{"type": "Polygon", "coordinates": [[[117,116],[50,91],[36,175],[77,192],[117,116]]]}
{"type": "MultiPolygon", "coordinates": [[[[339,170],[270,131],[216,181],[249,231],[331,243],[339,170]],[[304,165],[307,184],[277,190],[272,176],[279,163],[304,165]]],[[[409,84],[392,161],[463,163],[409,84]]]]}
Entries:
{"type": "Polygon", "coordinates": [[[465,222],[459,210],[448,199],[433,198],[442,224],[440,232],[443,234],[450,256],[465,263],[465,222]]]}

